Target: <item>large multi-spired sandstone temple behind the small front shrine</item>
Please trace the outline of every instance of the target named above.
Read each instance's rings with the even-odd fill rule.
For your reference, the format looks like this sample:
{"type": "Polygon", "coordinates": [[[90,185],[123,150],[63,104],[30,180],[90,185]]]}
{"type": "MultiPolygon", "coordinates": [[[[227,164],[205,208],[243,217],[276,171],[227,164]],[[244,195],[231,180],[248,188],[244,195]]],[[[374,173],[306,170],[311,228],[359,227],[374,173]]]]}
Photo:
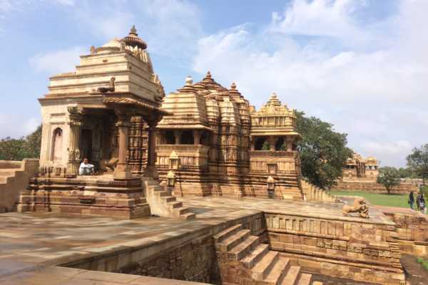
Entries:
{"type": "Polygon", "coordinates": [[[162,108],[173,115],[158,124],[156,167],[163,180],[174,172],[175,195],[302,199],[295,112],[275,93],[257,111],[235,83],[220,86],[208,72],[186,78],[162,108]]]}

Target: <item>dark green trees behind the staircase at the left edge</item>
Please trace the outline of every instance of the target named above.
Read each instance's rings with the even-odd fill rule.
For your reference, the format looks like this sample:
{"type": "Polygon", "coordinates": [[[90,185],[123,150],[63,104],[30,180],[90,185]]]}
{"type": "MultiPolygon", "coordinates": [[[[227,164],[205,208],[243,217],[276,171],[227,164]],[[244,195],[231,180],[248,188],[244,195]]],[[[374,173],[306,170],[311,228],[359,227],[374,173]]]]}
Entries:
{"type": "Polygon", "coordinates": [[[23,160],[39,158],[41,145],[41,125],[26,138],[4,138],[0,140],[0,160],[23,160]]]}

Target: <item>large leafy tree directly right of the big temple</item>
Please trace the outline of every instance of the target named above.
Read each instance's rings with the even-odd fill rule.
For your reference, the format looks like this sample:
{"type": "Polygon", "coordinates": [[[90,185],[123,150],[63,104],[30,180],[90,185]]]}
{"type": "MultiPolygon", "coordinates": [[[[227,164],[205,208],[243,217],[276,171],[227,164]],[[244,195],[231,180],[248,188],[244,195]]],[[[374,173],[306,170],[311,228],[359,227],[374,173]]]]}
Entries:
{"type": "Polygon", "coordinates": [[[347,134],[335,132],[332,124],[318,118],[307,118],[303,112],[296,115],[297,132],[302,135],[297,142],[302,175],[313,185],[330,189],[342,177],[342,168],[352,155],[346,146],[347,134]]]}

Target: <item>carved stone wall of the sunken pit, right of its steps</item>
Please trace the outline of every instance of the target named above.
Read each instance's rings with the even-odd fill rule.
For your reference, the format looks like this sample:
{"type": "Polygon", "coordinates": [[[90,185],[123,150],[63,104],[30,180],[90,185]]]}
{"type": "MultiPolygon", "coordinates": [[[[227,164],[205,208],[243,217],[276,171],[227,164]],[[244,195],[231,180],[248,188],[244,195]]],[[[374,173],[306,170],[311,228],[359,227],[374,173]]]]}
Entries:
{"type": "Polygon", "coordinates": [[[265,213],[270,246],[307,271],[404,284],[394,224],[265,213]]]}

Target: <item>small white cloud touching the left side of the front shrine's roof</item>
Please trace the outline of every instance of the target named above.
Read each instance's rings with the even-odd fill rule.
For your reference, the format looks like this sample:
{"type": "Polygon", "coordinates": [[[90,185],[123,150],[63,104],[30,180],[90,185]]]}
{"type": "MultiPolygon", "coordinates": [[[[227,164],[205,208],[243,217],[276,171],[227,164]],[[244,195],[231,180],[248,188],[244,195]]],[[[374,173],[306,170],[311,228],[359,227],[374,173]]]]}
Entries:
{"type": "Polygon", "coordinates": [[[39,53],[29,58],[31,68],[36,72],[47,73],[49,76],[56,73],[70,72],[79,62],[79,56],[88,53],[87,48],[73,46],[58,51],[39,53]]]}

